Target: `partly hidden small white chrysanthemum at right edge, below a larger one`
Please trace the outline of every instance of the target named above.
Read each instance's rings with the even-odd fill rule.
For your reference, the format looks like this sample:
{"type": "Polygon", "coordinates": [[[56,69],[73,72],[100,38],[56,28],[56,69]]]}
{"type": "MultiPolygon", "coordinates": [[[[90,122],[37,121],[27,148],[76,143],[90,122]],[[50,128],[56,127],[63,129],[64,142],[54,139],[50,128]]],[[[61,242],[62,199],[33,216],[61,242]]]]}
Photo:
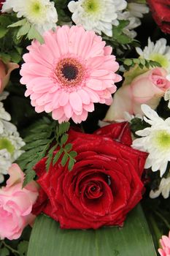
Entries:
{"type": "Polygon", "coordinates": [[[169,192],[170,192],[170,177],[162,178],[158,189],[150,191],[150,198],[156,198],[162,194],[162,196],[166,199],[169,197],[169,192]]]}

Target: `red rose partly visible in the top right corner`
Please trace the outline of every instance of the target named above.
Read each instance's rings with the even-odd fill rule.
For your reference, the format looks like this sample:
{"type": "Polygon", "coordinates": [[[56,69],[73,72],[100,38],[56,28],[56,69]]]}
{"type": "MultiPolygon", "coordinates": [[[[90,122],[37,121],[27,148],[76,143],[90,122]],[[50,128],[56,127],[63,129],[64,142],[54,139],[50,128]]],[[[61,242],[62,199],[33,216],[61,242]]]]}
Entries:
{"type": "Polygon", "coordinates": [[[170,34],[170,0],[147,0],[147,3],[160,29],[170,34]]]}

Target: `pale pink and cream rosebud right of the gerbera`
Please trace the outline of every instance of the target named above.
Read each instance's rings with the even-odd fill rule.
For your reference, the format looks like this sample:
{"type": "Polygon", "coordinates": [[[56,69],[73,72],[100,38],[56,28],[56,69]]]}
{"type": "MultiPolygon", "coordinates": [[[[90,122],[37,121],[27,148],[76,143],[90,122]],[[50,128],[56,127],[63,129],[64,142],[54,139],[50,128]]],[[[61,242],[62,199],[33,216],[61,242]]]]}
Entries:
{"type": "Polygon", "coordinates": [[[142,104],[155,110],[165,91],[170,88],[166,75],[166,70],[158,67],[137,76],[131,84],[123,84],[115,93],[104,121],[124,120],[125,112],[143,114],[142,104]]]}

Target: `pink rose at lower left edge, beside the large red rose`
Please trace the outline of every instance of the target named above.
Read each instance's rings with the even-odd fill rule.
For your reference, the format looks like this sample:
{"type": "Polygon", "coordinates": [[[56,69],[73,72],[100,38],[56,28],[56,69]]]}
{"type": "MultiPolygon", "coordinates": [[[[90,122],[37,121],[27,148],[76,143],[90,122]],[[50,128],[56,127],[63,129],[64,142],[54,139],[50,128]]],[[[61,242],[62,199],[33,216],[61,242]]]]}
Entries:
{"type": "Polygon", "coordinates": [[[31,211],[39,193],[35,181],[22,189],[24,174],[17,164],[9,168],[9,176],[6,187],[0,189],[0,238],[12,240],[34,222],[31,211]]]}

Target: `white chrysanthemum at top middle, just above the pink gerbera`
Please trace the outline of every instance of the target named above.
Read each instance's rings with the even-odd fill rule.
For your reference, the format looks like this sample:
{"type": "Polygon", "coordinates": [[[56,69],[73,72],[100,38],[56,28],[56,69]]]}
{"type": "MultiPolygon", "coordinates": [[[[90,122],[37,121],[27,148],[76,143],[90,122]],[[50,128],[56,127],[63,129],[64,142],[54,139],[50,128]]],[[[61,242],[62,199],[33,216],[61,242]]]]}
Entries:
{"type": "Polygon", "coordinates": [[[118,24],[117,12],[126,6],[125,0],[79,0],[70,1],[68,5],[76,25],[98,34],[104,32],[109,37],[112,37],[112,24],[118,24]]]}

